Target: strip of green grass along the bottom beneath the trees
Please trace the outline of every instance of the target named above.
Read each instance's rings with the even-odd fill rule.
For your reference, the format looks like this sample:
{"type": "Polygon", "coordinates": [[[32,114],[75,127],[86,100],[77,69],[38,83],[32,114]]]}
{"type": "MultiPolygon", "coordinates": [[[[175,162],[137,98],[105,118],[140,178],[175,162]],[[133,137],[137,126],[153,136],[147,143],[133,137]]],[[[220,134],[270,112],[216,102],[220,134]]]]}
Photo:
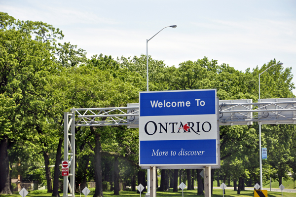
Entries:
{"type": "MultiPolygon", "coordinates": [[[[113,192],[103,192],[104,197],[114,197],[113,192]]],[[[92,197],[94,195],[94,189],[91,189],[91,192],[88,197],[92,197]]],[[[36,192],[31,192],[27,195],[27,197],[50,197],[51,194],[47,194],[46,190],[45,191],[40,191],[39,193],[36,192]]],[[[60,194],[62,197],[63,195],[60,194]]],[[[140,194],[137,194],[135,192],[120,192],[119,196],[121,197],[140,197],[140,194]]],[[[142,194],[144,197],[145,195],[142,194]]],[[[182,191],[179,192],[157,192],[156,193],[157,197],[182,197],[182,191]]],[[[204,195],[199,195],[197,196],[197,190],[184,190],[184,197],[203,197],[204,195]]],[[[213,195],[212,197],[222,197],[222,189],[214,189],[213,190],[213,195]]],[[[280,192],[268,192],[268,197],[281,197],[282,194],[280,192]]],[[[283,197],[295,197],[295,193],[283,193],[283,197]]],[[[0,195],[0,197],[20,197],[20,195],[13,194],[13,195],[0,195]]],[[[79,193],[75,194],[75,197],[80,197],[79,193]]],[[[84,197],[83,194],[81,194],[81,197],[84,197]]],[[[226,190],[226,194],[224,194],[224,197],[254,197],[253,191],[241,191],[241,195],[237,195],[236,191],[231,191],[231,190],[226,190]]]]}

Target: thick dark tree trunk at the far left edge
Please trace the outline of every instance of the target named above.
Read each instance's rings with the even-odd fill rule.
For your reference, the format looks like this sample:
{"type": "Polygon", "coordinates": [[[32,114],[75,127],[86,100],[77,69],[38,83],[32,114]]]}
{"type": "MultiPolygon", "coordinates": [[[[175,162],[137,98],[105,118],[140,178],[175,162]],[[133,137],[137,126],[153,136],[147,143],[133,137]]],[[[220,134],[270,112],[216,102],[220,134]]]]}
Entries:
{"type": "Polygon", "coordinates": [[[0,195],[12,194],[9,184],[9,160],[8,160],[8,137],[2,136],[0,140],[0,195]]]}

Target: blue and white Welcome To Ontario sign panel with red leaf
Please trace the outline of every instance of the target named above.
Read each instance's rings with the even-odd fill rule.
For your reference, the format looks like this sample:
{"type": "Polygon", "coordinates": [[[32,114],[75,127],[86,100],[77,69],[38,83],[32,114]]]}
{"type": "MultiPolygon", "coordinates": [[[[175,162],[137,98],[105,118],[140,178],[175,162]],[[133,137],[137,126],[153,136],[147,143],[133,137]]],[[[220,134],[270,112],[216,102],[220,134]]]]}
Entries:
{"type": "Polygon", "coordinates": [[[216,89],[140,92],[140,166],[218,165],[216,89]]]}

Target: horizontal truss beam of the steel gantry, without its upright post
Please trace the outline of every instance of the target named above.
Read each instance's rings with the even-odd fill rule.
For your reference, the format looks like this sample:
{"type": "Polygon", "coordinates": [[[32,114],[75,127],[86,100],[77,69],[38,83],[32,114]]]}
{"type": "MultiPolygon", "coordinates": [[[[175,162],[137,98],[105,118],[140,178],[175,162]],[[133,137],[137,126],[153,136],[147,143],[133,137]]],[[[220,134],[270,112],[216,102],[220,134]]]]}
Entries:
{"type": "MultiPolygon", "coordinates": [[[[274,101],[253,103],[251,99],[220,100],[220,125],[295,124],[295,101],[274,101]]],[[[262,99],[263,100],[263,99],[262,99]]],[[[281,100],[281,99],[275,99],[281,100]]],[[[75,126],[139,126],[139,104],[134,107],[73,109],[77,121],[75,126]]]]}

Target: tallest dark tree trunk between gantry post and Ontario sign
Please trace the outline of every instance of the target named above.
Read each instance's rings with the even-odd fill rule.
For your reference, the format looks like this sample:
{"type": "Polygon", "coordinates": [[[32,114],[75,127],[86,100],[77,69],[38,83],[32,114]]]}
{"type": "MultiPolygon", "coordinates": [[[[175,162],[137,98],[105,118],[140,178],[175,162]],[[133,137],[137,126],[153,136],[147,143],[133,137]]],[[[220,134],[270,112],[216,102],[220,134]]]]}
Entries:
{"type": "MultiPolygon", "coordinates": [[[[94,132],[94,128],[90,127],[94,132]]],[[[95,155],[94,155],[94,164],[95,164],[95,180],[96,180],[96,189],[93,197],[103,197],[103,181],[102,181],[102,145],[101,145],[101,135],[95,133],[95,155]]]]}

